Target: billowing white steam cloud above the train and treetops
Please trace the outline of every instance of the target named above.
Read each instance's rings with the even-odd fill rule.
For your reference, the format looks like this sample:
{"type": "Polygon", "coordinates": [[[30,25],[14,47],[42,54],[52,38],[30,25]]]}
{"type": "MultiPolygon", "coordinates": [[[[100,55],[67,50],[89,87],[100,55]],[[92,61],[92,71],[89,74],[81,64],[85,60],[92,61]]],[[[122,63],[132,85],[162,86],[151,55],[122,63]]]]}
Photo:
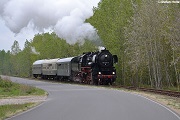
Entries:
{"type": "Polygon", "coordinates": [[[85,20],[93,15],[100,0],[0,0],[0,17],[18,34],[26,28],[54,31],[74,44],[84,39],[100,40],[96,29],[85,20]]]}

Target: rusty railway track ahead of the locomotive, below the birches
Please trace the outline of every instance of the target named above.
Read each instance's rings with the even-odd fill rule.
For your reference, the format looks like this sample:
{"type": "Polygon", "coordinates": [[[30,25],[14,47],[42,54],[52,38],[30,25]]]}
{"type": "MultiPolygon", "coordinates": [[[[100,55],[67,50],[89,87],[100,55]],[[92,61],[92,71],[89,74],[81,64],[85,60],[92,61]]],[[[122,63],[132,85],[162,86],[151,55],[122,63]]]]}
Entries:
{"type": "Polygon", "coordinates": [[[139,90],[139,91],[145,91],[145,92],[152,92],[152,93],[156,93],[156,94],[161,94],[161,95],[167,95],[167,96],[180,98],[180,92],[178,92],[178,91],[161,90],[161,89],[153,89],[153,88],[143,88],[143,87],[136,88],[136,87],[133,87],[133,86],[128,86],[128,87],[116,86],[116,87],[125,88],[125,89],[129,89],[129,90],[139,90]]]}

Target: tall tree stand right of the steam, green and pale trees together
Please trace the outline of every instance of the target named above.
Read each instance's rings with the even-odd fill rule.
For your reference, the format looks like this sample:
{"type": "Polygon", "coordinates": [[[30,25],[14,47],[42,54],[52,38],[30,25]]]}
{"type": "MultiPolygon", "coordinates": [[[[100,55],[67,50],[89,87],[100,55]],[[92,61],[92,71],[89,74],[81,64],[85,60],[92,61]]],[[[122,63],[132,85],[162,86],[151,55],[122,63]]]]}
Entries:
{"type": "Polygon", "coordinates": [[[179,6],[156,0],[103,0],[87,20],[119,57],[121,85],[180,85],[179,6]]]}

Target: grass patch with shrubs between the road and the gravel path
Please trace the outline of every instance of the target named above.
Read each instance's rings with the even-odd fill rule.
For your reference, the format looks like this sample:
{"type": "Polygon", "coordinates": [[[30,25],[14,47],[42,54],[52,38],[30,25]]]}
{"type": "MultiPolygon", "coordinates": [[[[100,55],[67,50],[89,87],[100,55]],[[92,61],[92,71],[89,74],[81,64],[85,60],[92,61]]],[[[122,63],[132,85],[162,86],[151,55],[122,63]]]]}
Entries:
{"type": "Polygon", "coordinates": [[[13,83],[0,78],[0,98],[27,95],[45,95],[45,91],[28,85],[13,83]]]}

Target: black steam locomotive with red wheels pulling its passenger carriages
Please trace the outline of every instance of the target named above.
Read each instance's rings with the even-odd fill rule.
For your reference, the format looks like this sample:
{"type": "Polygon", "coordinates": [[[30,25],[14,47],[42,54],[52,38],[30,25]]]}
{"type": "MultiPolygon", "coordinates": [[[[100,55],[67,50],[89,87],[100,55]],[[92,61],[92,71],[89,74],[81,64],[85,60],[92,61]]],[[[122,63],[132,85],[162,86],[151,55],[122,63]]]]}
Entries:
{"type": "Polygon", "coordinates": [[[117,55],[106,48],[79,56],[37,60],[32,65],[35,78],[67,80],[94,85],[112,85],[116,78],[117,55]]]}

